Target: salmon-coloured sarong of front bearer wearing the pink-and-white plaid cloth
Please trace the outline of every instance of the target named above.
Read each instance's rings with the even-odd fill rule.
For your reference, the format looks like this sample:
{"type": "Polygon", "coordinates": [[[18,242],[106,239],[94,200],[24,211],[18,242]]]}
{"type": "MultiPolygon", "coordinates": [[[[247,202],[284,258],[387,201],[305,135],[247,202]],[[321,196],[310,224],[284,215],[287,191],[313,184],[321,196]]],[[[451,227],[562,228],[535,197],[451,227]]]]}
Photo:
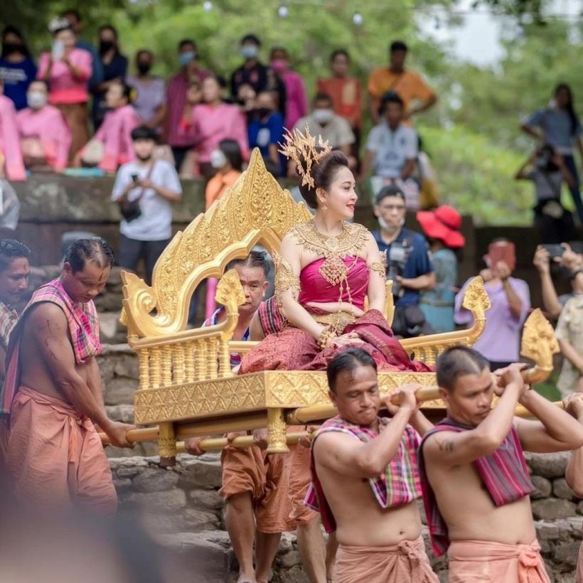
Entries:
{"type": "Polygon", "coordinates": [[[439,583],[423,537],[389,547],[338,545],[335,583],[439,583]]]}

